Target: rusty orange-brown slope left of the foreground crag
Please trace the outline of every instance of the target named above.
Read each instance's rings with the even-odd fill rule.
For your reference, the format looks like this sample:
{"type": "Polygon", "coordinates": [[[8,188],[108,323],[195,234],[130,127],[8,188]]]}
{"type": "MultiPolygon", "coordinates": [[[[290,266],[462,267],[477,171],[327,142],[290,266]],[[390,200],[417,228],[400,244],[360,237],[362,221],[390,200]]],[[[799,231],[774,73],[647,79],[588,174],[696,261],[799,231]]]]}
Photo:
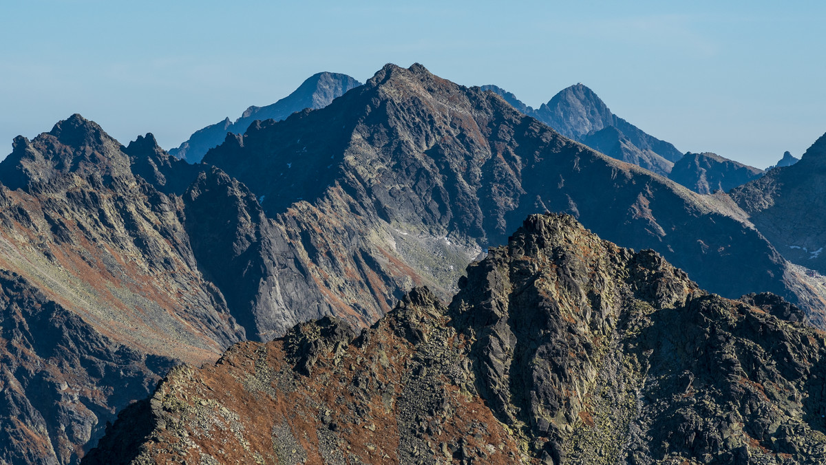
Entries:
{"type": "Polygon", "coordinates": [[[412,292],[355,336],[325,317],[237,344],[214,367],[175,368],[121,415],[147,436],[122,420],[84,463],[520,461],[518,441],[472,393],[466,340],[432,293],[412,292]]]}

